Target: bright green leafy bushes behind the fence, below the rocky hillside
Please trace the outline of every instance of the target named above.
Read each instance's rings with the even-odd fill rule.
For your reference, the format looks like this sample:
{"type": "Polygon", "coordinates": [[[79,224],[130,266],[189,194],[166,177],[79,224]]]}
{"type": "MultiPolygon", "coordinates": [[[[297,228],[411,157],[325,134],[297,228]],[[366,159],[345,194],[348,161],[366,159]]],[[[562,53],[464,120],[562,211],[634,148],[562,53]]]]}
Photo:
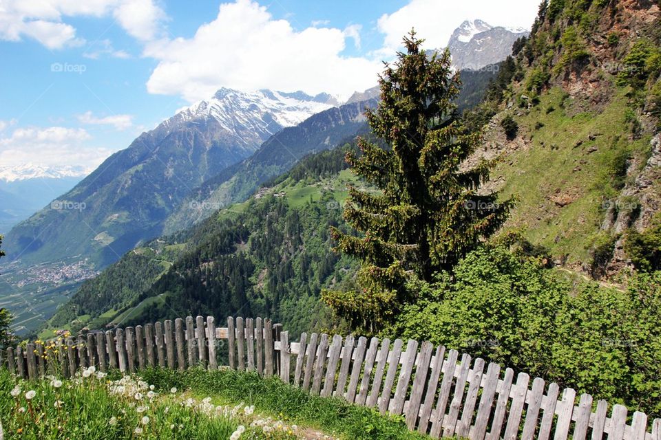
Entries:
{"type": "Polygon", "coordinates": [[[430,340],[596,399],[661,415],[661,272],[626,292],[577,282],[505,248],[472,252],[389,336],[430,340]]]}

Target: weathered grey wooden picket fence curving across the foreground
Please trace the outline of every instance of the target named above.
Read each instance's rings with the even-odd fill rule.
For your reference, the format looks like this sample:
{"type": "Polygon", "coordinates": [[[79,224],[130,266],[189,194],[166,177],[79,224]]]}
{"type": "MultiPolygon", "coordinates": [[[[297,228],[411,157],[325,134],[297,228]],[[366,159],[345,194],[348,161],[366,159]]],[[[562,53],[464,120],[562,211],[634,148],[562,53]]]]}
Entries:
{"type": "Polygon", "coordinates": [[[3,353],[4,365],[21,377],[58,371],[65,377],[94,365],[101,371],[136,371],[149,366],[218,369],[218,360],[240,371],[277,375],[313,395],[341,397],[402,415],[410,430],[431,437],[469,439],[661,440],[661,419],[526,373],[502,371],[430,342],[390,341],[355,336],[302,333],[290,342],[288,332],[271,320],[228,318],[216,327],[213,317],[198,316],[155,325],[88,333],[52,348],[28,344],[3,353]],[[559,397],[559,398],[558,398],[559,397]]]}

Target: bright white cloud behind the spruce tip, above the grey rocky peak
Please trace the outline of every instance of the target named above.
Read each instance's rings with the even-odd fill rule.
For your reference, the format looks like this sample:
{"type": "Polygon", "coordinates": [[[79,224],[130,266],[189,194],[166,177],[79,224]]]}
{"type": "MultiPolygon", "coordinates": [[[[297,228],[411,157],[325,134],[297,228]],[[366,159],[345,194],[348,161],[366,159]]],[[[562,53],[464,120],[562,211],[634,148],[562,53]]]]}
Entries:
{"type": "Polygon", "coordinates": [[[384,14],[377,26],[385,34],[384,47],[377,54],[390,54],[401,46],[403,36],[415,28],[425,46],[445,47],[452,31],[466,19],[481,19],[494,26],[510,26],[529,29],[534,21],[538,0],[448,1],[410,0],[392,14],[384,14]]]}

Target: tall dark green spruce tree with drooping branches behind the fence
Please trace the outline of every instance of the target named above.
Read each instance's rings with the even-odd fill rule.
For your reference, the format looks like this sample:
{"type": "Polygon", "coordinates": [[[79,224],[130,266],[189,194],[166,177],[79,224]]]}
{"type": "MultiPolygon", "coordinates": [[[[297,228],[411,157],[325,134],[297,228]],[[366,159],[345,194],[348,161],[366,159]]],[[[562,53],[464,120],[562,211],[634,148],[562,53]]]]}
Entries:
{"type": "Polygon", "coordinates": [[[461,82],[450,53],[429,56],[413,31],[403,43],[406,54],[379,75],[377,110],[366,111],[385,148],[359,138],[361,154],[346,156],[377,190],[349,188],[344,219],[359,234],[331,229],[337,250],[361,261],[359,289],[326,291],[323,299],[364,333],[376,333],[415,299],[407,281],[452,270],[503,224],[511,205],[479,191],[490,164],[465,166],[481,136],[465,131],[457,116],[461,82]]]}

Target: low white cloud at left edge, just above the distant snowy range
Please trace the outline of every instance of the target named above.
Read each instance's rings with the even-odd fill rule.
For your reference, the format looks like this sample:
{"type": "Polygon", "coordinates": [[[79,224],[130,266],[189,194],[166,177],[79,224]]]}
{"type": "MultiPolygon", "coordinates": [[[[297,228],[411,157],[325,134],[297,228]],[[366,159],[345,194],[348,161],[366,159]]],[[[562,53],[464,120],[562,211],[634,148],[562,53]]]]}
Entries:
{"type": "Polygon", "coordinates": [[[112,151],[103,147],[85,146],[84,142],[90,138],[90,134],[84,129],[62,126],[15,129],[11,135],[0,137],[0,164],[75,165],[92,170],[112,151]]]}

